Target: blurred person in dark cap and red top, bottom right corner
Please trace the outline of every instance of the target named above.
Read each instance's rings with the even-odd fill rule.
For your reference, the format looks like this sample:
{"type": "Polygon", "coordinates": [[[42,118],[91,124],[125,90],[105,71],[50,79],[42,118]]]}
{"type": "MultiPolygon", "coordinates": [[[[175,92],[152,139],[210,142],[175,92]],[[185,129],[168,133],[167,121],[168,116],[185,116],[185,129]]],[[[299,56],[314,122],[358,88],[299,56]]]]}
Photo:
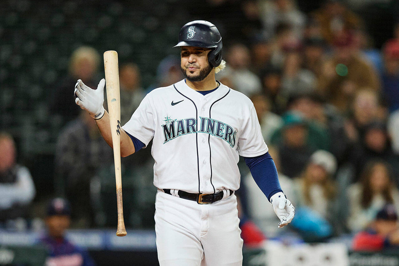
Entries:
{"type": "Polygon", "coordinates": [[[384,248],[398,248],[399,227],[395,206],[385,205],[365,231],[356,234],[352,249],[355,251],[379,251],[384,248]]]}

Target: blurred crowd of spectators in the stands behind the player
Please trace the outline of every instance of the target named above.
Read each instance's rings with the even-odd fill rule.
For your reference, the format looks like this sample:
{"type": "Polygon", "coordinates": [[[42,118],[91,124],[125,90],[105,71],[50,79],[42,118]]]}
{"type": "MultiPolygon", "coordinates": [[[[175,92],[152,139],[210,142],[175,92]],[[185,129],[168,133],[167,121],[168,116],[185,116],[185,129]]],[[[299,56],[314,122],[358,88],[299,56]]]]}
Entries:
{"type": "MultiPolygon", "coordinates": [[[[376,244],[366,249],[399,244],[399,23],[379,47],[358,14],[363,1],[308,2],[209,0],[188,10],[221,31],[227,67],[216,78],[253,101],[281,187],[296,207],[292,226],[277,229],[270,203],[240,161],[240,216],[250,222],[243,238],[256,242],[292,230],[308,242],[356,234],[358,249],[367,239],[376,244]]],[[[77,79],[97,87],[99,52],[81,46],[71,54],[69,74],[54,85],[49,103],[63,121],[54,196],[71,202],[78,228],[116,223],[113,151],[72,93],[77,79]]],[[[120,64],[122,125],[148,91],[183,78],[178,55],[160,60],[145,86],[134,60],[120,64]]],[[[1,133],[0,147],[0,222],[7,227],[32,218],[26,207],[35,187],[29,170],[16,164],[12,136],[1,133]]],[[[152,165],[150,147],[122,158],[128,227],[154,224],[152,165]]]]}

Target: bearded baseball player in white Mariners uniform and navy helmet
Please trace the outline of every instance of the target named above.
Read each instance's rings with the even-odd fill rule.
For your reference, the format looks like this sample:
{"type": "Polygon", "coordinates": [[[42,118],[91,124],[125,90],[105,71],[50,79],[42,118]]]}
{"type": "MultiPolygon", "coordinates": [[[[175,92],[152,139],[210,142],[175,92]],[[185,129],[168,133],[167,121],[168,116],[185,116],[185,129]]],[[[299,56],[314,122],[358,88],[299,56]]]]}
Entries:
{"type": "MultiPolygon", "coordinates": [[[[239,155],[280,218],[294,217],[251,100],[215,80],[225,66],[215,25],[184,25],[176,47],[185,79],[144,97],[120,133],[123,157],[151,139],[156,195],[155,231],[160,265],[241,265],[237,200],[239,155]]],[[[76,103],[94,119],[112,147],[102,79],[93,90],[79,79],[76,103]]],[[[266,208],[266,206],[265,206],[266,208]]]]}

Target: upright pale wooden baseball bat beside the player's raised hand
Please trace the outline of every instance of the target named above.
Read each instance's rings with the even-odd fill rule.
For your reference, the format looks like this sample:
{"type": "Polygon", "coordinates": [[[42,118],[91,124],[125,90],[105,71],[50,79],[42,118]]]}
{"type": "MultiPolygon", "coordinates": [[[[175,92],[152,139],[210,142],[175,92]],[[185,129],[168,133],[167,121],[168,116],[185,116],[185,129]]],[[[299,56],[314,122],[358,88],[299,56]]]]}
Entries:
{"type": "Polygon", "coordinates": [[[126,236],[123,221],[122,175],[120,172],[120,93],[118,53],[104,53],[105,83],[107,84],[107,102],[111,125],[112,147],[114,149],[115,181],[117,183],[118,229],[117,236],[126,236]]]}

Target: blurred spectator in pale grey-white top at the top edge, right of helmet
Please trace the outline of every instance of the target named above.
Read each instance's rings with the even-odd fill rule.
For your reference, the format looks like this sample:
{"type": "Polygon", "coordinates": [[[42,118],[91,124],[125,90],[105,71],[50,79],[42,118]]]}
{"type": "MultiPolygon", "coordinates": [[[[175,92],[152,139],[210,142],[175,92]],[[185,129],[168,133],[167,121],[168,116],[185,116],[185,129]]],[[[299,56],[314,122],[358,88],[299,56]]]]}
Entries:
{"type": "Polygon", "coordinates": [[[288,24],[297,38],[302,38],[306,17],[296,7],[295,0],[263,0],[259,1],[261,20],[266,34],[273,37],[278,24],[288,24]]]}

